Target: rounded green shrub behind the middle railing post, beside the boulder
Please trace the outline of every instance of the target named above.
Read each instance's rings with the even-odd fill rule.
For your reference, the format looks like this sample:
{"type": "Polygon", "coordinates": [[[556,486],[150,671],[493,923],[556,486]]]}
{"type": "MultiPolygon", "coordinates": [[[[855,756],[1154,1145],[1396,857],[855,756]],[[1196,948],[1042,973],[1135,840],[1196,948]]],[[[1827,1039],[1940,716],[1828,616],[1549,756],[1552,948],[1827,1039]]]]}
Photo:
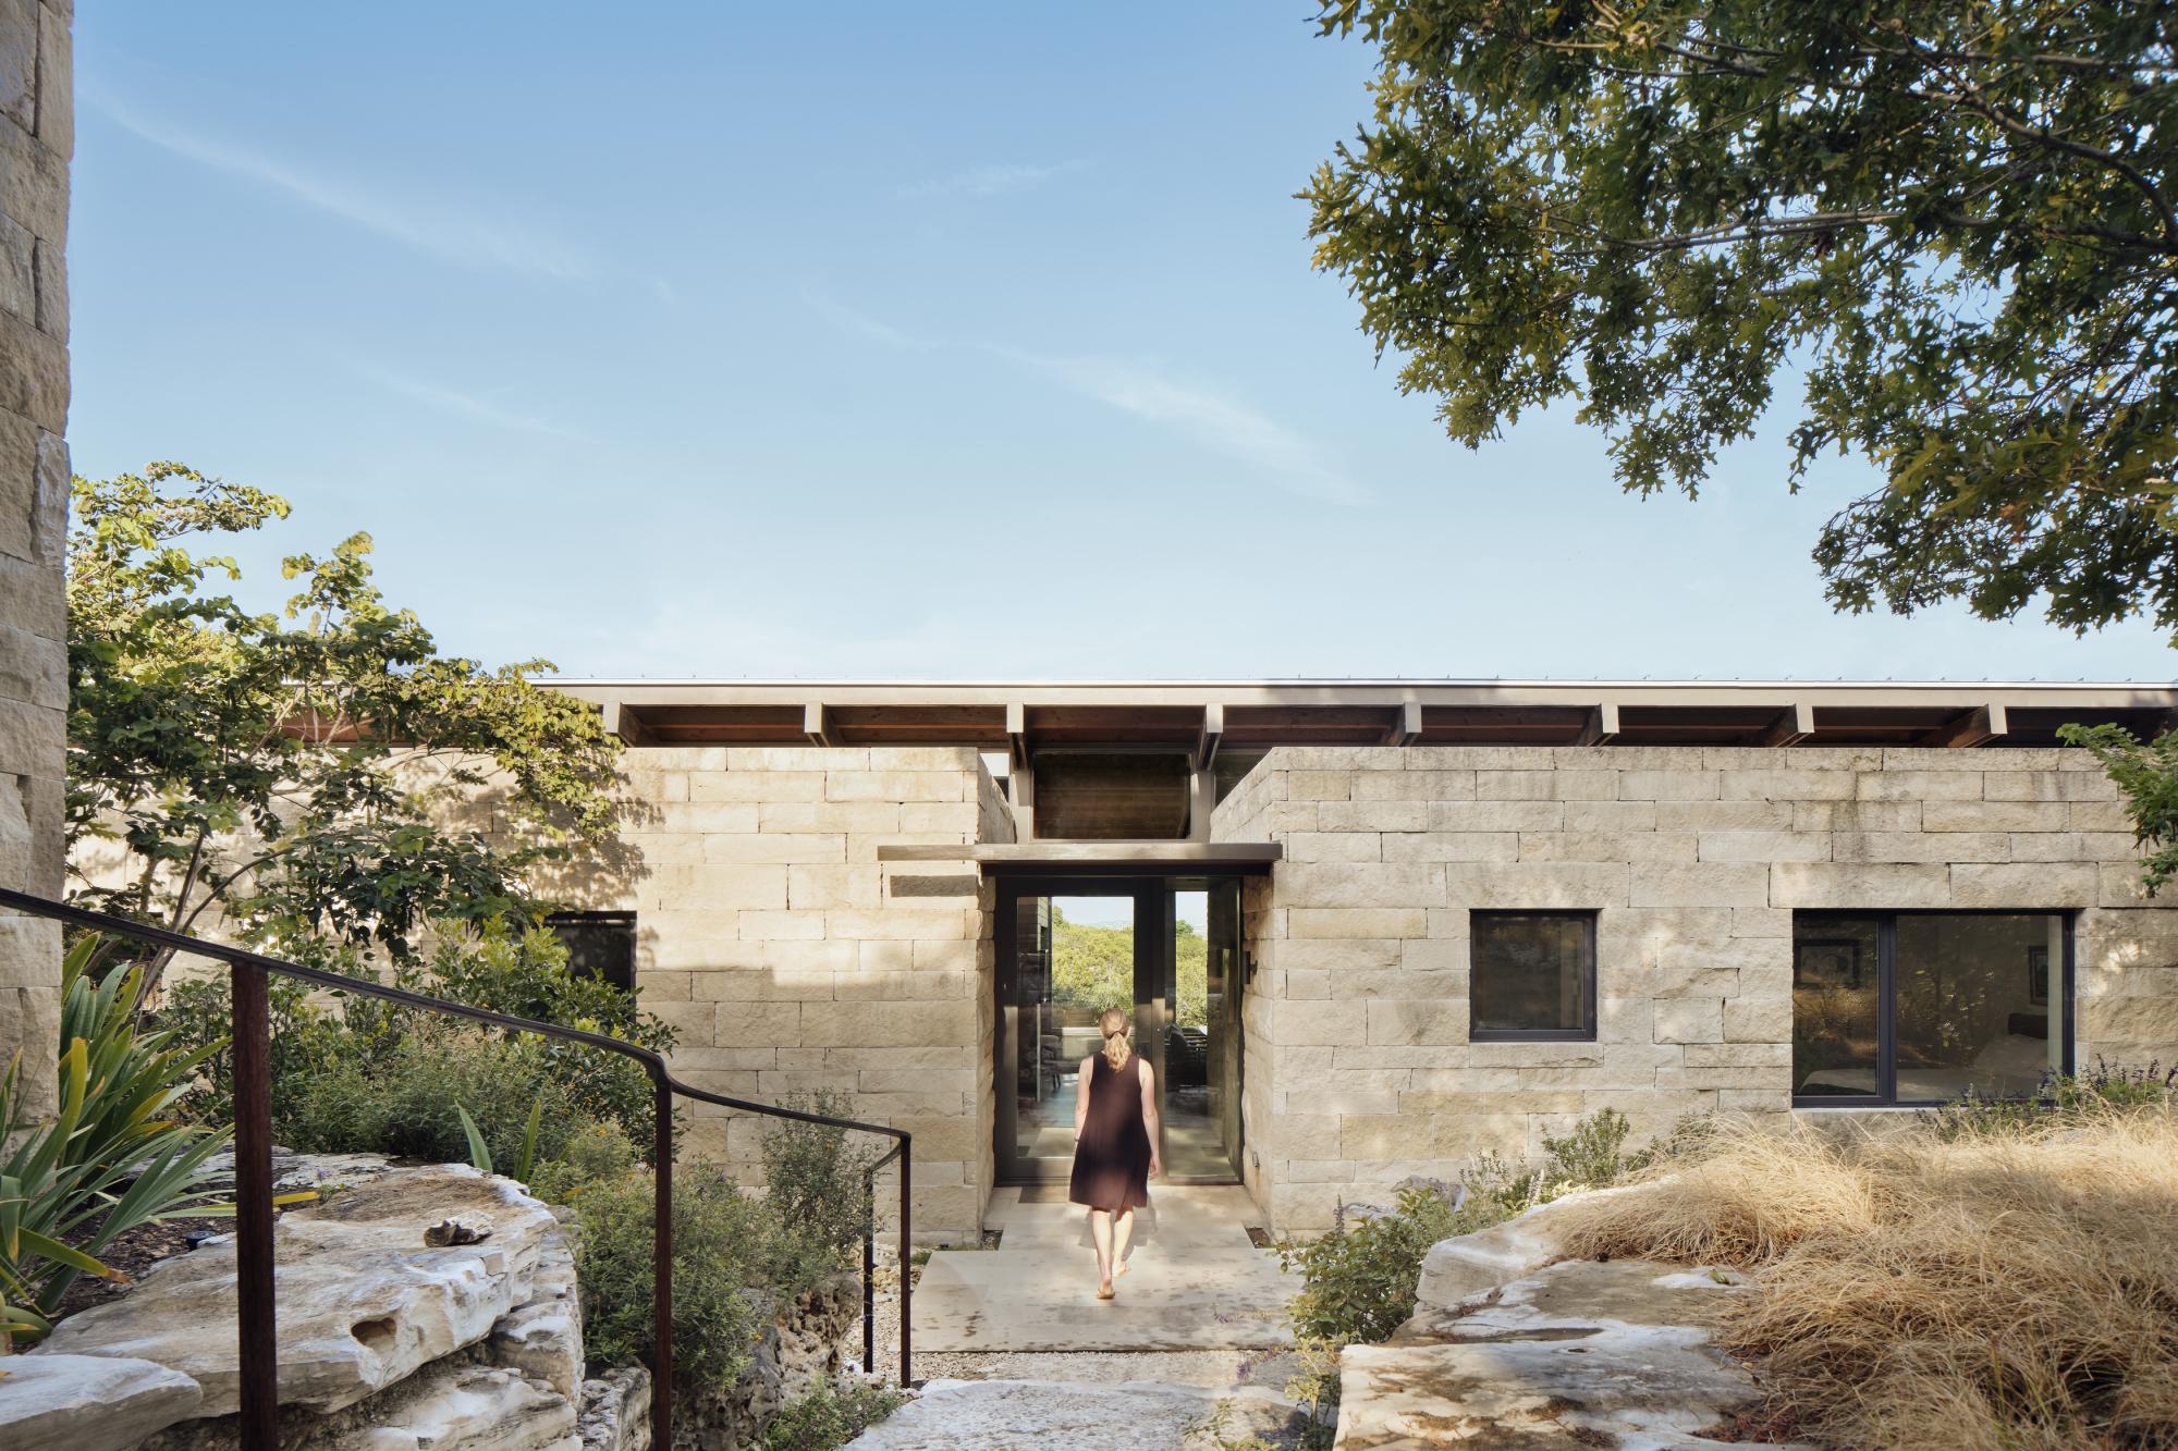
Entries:
{"type": "MultiPolygon", "coordinates": [[[[584,1290],[584,1349],[592,1366],[649,1362],[653,1181],[647,1172],[592,1183],[575,1203],[575,1270],[584,1290]]],[[[725,1172],[684,1163],[673,1176],[673,1379],[684,1390],[730,1386],[762,1329],[747,1290],[773,1283],[775,1220],[725,1172]]]]}

